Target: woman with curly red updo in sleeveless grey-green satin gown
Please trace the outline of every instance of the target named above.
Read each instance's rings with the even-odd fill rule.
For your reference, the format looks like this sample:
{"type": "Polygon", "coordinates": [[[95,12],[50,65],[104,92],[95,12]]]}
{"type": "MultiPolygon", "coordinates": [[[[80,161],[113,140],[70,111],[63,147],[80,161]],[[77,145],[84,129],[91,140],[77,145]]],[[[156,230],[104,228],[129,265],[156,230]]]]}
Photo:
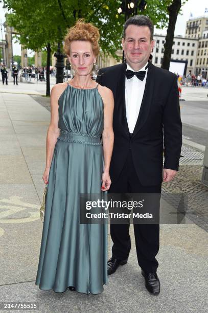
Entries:
{"type": "Polygon", "coordinates": [[[35,283],[58,293],[69,287],[99,294],[108,282],[107,225],[79,222],[79,194],[102,194],[111,184],[113,95],[90,77],[98,40],[98,29],[82,20],[69,29],[64,49],[75,76],[51,93],[42,176],[48,190],[35,283]]]}

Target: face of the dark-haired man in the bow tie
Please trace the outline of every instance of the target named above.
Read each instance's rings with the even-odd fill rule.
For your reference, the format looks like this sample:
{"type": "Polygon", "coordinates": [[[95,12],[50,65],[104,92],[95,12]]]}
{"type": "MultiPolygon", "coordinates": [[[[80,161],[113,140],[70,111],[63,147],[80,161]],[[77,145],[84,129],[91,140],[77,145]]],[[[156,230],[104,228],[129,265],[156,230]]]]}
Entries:
{"type": "Polygon", "coordinates": [[[126,29],[122,46],[127,63],[131,68],[142,68],[148,61],[154,47],[154,40],[150,40],[148,26],[129,25],[126,29]]]}

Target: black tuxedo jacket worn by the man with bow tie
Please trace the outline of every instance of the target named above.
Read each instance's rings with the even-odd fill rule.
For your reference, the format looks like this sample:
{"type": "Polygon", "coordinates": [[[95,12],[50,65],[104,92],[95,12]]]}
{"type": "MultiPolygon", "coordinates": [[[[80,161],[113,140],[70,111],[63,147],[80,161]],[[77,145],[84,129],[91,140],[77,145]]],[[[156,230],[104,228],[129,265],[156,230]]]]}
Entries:
{"type": "Polygon", "coordinates": [[[110,88],[114,96],[114,146],[110,164],[111,181],[116,182],[129,149],[138,179],[143,186],[163,181],[164,168],[178,170],[182,127],[177,76],[148,63],[147,79],[140,113],[132,136],[126,119],[126,63],[101,69],[97,82],[110,88]]]}

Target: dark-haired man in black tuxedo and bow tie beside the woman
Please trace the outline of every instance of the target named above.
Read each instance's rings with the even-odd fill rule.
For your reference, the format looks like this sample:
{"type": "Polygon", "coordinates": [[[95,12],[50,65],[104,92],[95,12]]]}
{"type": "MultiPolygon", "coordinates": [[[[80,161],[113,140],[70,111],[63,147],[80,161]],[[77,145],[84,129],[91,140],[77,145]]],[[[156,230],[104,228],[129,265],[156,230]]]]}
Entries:
{"type": "MultiPolygon", "coordinates": [[[[126,62],[98,73],[97,81],[114,95],[111,193],[160,194],[162,181],[170,182],[178,171],[182,136],[177,76],[148,62],[153,32],[148,17],[130,17],[122,39],[126,62]]],[[[131,247],[128,224],[111,223],[110,232],[113,246],[108,275],[127,263],[131,247]]],[[[155,258],[159,225],[134,223],[134,236],[146,288],[159,294],[155,258]]]]}

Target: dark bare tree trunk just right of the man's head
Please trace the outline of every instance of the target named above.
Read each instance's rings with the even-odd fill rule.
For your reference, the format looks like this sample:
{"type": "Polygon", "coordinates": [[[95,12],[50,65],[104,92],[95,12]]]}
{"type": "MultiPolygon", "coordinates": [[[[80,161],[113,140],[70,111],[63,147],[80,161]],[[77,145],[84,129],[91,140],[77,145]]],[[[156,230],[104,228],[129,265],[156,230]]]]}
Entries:
{"type": "Polygon", "coordinates": [[[164,56],[163,62],[161,64],[161,68],[165,70],[169,70],[170,68],[170,60],[172,54],[172,47],[173,47],[173,39],[174,39],[174,32],[175,32],[175,24],[177,20],[178,13],[180,11],[181,6],[188,0],[184,0],[181,3],[181,0],[173,0],[171,5],[168,6],[169,12],[169,23],[166,35],[166,42],[164,44],[164,56]]]}

